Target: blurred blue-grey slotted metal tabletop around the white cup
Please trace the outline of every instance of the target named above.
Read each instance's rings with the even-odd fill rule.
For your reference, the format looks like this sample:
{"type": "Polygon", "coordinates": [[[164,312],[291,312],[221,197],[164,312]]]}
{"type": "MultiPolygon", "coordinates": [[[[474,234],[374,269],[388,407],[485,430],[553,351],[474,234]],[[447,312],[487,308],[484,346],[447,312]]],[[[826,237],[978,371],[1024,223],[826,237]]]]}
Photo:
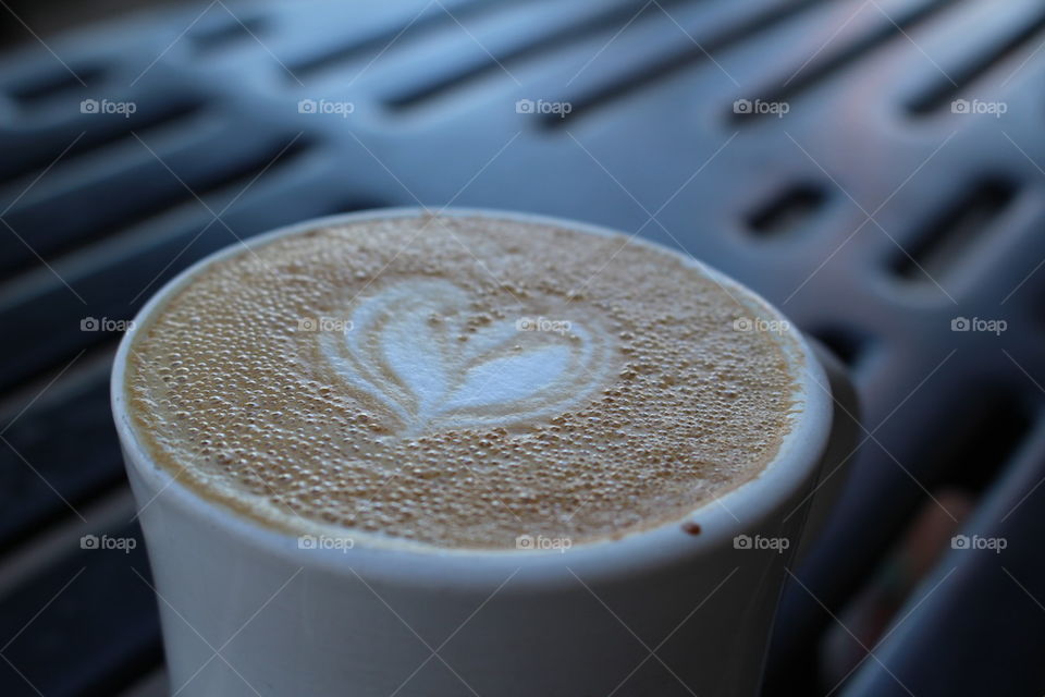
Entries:
{"type": "Polygon", "coordinates": [[[767,694],[834,687],[824,633],[951,485],[979,497],[962,531],[1007,549],[948,551],[845,689],[1045,690],[1040,3],[204,8],[2,63],[2,694],[110,695],[160,665],[140,546],[78,545],[134,529],[111,320],[236,239],[418,203],[684,248],[849,363],[865,442],[785,592],[767,694]],[[134,112],[103,113],[120,103],[134,112]],[[1007,329],[952,331],[961,317],[1007,329]]]}

